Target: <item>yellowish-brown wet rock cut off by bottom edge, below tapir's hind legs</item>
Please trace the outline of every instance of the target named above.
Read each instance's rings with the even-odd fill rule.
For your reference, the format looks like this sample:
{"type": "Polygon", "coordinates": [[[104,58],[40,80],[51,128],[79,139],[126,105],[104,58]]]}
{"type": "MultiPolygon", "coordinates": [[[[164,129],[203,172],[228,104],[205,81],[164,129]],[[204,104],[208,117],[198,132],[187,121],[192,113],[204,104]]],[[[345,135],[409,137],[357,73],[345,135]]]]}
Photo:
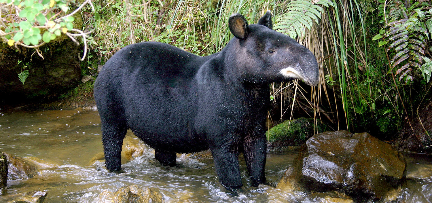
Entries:
{"type": "Polygon", "coordinates": [[[149,188],[133,184],[117,192],[102,191],[92,203],[162,203],[162,195],[149,188]]]}

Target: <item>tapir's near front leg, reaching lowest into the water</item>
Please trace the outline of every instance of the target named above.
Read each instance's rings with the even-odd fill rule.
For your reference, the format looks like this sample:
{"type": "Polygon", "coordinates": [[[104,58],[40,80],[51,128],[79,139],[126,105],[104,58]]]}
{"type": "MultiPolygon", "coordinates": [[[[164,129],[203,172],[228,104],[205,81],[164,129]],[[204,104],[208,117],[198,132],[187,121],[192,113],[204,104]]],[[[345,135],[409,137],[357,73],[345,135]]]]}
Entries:
{"type": "Polygon", "coordinates": [[[241,183],[240,168],[238,166],[238,135],[215,136],[209,143],[220,183],[229,190],[235,191],[243,185],[241,183]]]}

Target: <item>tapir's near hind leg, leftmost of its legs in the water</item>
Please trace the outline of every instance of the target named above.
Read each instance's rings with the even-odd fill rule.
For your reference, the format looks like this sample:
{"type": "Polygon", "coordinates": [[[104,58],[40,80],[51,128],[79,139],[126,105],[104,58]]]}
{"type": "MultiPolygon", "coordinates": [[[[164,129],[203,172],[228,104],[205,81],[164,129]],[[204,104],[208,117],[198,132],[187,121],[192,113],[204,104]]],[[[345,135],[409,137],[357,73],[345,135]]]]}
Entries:
{"type": "Polygon", "coordinates": [[[109,171],[121,170],[121,146],[127,132],[124,122],[102,120],[102,143],[104,145],[105,166],[109,171]]]}

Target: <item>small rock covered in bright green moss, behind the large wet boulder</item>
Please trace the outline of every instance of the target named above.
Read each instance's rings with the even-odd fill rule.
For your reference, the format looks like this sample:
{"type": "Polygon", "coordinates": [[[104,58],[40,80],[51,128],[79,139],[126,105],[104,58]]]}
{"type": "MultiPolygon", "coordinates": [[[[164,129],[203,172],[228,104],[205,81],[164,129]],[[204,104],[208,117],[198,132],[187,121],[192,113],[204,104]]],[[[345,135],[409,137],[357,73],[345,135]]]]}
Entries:
{"type": "Polygon", "coordinates": [[[270,149],[300,146],[313,136],[315,133],[322,133],[327,127],[317,120],[317,125],[313,118],[297,118],[284,121],[267,131],[267,140],[270,142],[270,149]]]}

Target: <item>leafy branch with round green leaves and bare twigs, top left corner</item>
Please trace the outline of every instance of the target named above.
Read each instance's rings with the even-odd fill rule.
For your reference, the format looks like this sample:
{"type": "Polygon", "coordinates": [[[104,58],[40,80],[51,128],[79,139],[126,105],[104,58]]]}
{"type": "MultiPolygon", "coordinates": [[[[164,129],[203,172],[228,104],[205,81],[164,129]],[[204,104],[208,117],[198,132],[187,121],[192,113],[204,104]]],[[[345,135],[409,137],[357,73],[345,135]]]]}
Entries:
{"type": "Polygon", "coordinates": [[[90,32],[73,28],[73,15],[89,4],[84,1],[78,8],[70,11],[71,0],[0,0],[0,38],[10,46],[34,48],[35,53],[44,58],[39,48],[56,39],[62,33],[76,44],[77,37],[83,38],[84,60],[87,54],[87,38],[90,32]],[[44,32],[41,34],[41,32],[44,32]]]}

